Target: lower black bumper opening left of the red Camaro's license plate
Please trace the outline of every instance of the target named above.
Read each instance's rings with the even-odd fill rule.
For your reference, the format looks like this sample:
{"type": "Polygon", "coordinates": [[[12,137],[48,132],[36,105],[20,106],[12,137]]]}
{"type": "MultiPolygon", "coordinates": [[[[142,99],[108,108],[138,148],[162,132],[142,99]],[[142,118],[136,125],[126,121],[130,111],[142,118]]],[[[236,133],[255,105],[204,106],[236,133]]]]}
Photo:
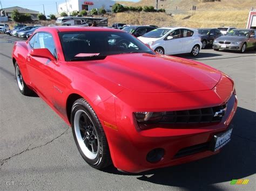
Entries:
{"type": "Polygon", "coordinates": [[[192,155],[192,154],[196,154],[199,152],[204,152],[204,151],[210,150],[209,148],[210,148],[210,142],[185,147],[185,148],[182,148],[181,150],[179,150],[176,153],[176,155],[174,155],[173,158],[176,159],[176,158],[186,157],[188,155],[192,155]]]}

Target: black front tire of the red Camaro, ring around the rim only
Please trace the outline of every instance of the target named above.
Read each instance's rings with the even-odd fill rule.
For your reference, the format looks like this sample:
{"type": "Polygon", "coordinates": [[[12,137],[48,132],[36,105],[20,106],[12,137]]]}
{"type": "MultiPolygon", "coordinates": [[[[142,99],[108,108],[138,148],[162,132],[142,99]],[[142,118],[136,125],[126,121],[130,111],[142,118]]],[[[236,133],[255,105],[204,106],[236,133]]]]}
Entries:
{"type": "Polygon", "coordinates": [[[75,139],[75,143],[77,145],[77,148],[79,150],[79,153],[82,155],[83,159],[91,166],[97,168],[98,166],[100,166],[100,162],[103,160],[103,138],[102,138],[102,134],[100,133],[99,130],[99,124],[97,123],[95,117],[93,116],[91,109],[88,107],[87,104],[84,104],[81,101],[75,102],[73,104],[72,107],[72,111],[71,111],[71,126],[72,126],[72,133],[73,133],[73,137],[75,139]],[[78,140],[76,137],[76,132],[75,132],[75,127],[74,127],[74,117],[75,114],[78,110],[83,110],[86,112],[87,115],[89,115],[89,117],[91,118],[91,121],[93,123],[93,125],[96,127],[95,131],[96,134],[98,136],[99,139],[99,151],[97,154],[97,157],[95,159],[89,159],[86,157],[86,155],[83,153],[82,149],[80,148],[80,145],[78,144],[78,140]]]}

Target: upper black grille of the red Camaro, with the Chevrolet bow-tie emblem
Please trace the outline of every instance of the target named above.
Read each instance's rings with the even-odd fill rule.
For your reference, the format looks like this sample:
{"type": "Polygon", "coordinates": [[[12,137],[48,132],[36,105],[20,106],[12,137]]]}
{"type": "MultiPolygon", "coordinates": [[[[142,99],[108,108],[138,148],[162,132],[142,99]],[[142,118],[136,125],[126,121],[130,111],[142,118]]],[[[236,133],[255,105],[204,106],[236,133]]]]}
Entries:
{"type": "Polygon", "coordinates": [[[187,123],[213,123],[220,122],[223,116],[214,116],[226,108],[226,105],[219,105],[211,108],[201,108],[182,111],[167,111],[161,117],[161,124],[187,124],[187,123]]]}

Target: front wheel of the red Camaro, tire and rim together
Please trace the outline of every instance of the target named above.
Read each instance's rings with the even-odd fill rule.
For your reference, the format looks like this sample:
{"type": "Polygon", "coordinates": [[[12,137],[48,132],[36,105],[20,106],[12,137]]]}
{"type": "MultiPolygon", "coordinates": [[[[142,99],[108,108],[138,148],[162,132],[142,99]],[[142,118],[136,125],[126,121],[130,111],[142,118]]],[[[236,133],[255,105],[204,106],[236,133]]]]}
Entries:
{"type": "Polygon", "coordinates": [[[95,111],[84,98],[73,103],[71,125],[73,137],[83,159],[96,169],[109,166],[111,158],[104,129],[95,111]]]}

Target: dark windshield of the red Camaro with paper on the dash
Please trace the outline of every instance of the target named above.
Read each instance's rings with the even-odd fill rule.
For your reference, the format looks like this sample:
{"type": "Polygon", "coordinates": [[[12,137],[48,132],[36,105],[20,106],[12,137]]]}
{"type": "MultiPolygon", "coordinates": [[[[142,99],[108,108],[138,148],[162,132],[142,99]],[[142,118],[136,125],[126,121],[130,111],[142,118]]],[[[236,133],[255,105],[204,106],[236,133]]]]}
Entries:
{"type": "Polygon", "coordinates": [[[104,59],[114,54],[149,53],[155,54],[149,47],[126,32],[113,31],[72,31],[60,32],[66,61],[104,59]],[[87,56],[87,55],[92,56],[87,56]]]}

